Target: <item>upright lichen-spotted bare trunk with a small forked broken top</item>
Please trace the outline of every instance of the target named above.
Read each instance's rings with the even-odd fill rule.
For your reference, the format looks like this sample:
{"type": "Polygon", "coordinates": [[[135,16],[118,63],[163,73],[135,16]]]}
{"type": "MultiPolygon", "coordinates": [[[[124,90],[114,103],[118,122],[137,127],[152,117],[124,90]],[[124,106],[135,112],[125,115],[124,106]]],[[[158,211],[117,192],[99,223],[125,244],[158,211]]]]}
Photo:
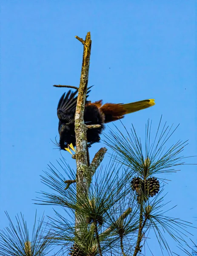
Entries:
{"type": "MultiPolygon", "coordinates": [[[[90,53],[91,53],[91,37],[90,32],[86,35],[86,40],[76,36],[76,38],[83,43],[83,62],[81,68],[80,86],[77,96],[77,107],[75,113],[75,134],[76,134],[76,164],[77,164],[77,198],[88,195],[88,156],[87,156],[87,137],[86,125],[83,120],[83,113],[86,102],[86,93],[89,76],[90,53]]],[[[76,212],[75,224],[76,226],[83,223],[83,218],[76,212]]]]}

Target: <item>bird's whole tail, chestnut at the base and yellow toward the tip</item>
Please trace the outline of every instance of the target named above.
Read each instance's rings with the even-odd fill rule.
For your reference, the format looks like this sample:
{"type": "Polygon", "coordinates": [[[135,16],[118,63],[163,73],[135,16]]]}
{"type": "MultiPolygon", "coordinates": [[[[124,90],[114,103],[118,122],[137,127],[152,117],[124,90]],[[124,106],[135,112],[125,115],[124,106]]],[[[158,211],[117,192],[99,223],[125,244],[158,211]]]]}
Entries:
{"type": "Polygon", "coordinates": [[[131,102],[127,104],[106,103],[100,107],[100,110],[105,115],[105,123],[108,123],[122,119],[126,114],[149,108],[153,105],[155,105],[154,99],[144,99],[139,102],[131,102]]]}

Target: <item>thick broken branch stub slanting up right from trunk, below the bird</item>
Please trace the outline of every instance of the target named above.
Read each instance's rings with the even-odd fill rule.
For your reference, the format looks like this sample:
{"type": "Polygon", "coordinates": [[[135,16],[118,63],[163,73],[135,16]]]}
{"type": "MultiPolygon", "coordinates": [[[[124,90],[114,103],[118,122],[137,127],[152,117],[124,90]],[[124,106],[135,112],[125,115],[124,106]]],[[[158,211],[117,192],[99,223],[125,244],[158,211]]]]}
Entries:
{"type": "Polygon", "coordinates": [[[103,161],[106,151],[107,151],[107,148],[100,148],[99,151],[95,154],[95,156],[88,168],[89,184],[91,182],[92,176],[96,172],[97,168],[100,166],[100,163],[103,161]]]}

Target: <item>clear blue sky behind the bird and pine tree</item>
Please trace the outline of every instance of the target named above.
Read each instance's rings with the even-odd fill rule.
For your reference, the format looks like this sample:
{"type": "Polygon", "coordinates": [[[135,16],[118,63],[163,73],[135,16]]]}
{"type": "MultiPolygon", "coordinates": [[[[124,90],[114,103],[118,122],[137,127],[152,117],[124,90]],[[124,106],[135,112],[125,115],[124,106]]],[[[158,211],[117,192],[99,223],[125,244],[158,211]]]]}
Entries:
{"type": "MultiPolygon", "coordinates": [[[[156,127],[163,115],[169,125],[180,123],[170,143],[189,140],[184,155],[197,154],[196,7],[194,0],[1,1],[1,228],[8,224],[4,210],[11,218],[23,212],[30,226],[35,209],[53,215],[52,207],[31,200],[47,190],[42,170],[61,157],[51,140],[58,135],[57,102],[65,90],[52,85],[79,85],[83,46],[75,35],[91,32],[91,101],[154,98],[154,107],[126,116],[124,125],[133,123],[143,135],[147,119],[156,127]]],[[[91,157],[102,145],[92,146],[91,157]]],[[[62,154],[74,167],[70,154],[62,154]]],[[[166,201],[177,205],[169,215],[196,224],[196,166],[167,178],[166,201]]],[[[160,255],[154,241],[152,253],[160,255]]]]}

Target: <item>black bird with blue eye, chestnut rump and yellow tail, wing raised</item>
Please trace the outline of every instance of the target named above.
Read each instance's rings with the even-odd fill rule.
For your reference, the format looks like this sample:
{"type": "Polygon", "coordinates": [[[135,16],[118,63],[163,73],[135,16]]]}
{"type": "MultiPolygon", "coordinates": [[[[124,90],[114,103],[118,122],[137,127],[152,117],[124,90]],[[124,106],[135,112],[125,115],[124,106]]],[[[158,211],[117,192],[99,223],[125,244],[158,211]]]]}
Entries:
{"type": "MultiPolygon", "coordinates": [[[[90,92],[88,88],[87,94],[90,92]]],[[[76,146],[76,138],[74,132],[74,116],[77,107],[77,90],[72,92],[69,90],[63,93],[58,105],[57,116],[59,119],[58,131],[60,135],[57,146],[60,150],[74,150],[76,146]]],[[[145,99],[127,104],[123,103],[106,103],[103,105],[103,100],[96,102],[87,101],[89,95],[86,96],[84,109],[84,123],[86,125],[100,125],[100,128],[87,130],[88,147],[92,144],[100,142],[100,134],[105,128],[105,124],[122,119],[126,114],[149,108],[155,105],[154,99],[145,99]]],[[[75,150],[74,150],[75,151],[75,150]]],[[[71,153],[71,152],[70,152],[71,153]]]]}

